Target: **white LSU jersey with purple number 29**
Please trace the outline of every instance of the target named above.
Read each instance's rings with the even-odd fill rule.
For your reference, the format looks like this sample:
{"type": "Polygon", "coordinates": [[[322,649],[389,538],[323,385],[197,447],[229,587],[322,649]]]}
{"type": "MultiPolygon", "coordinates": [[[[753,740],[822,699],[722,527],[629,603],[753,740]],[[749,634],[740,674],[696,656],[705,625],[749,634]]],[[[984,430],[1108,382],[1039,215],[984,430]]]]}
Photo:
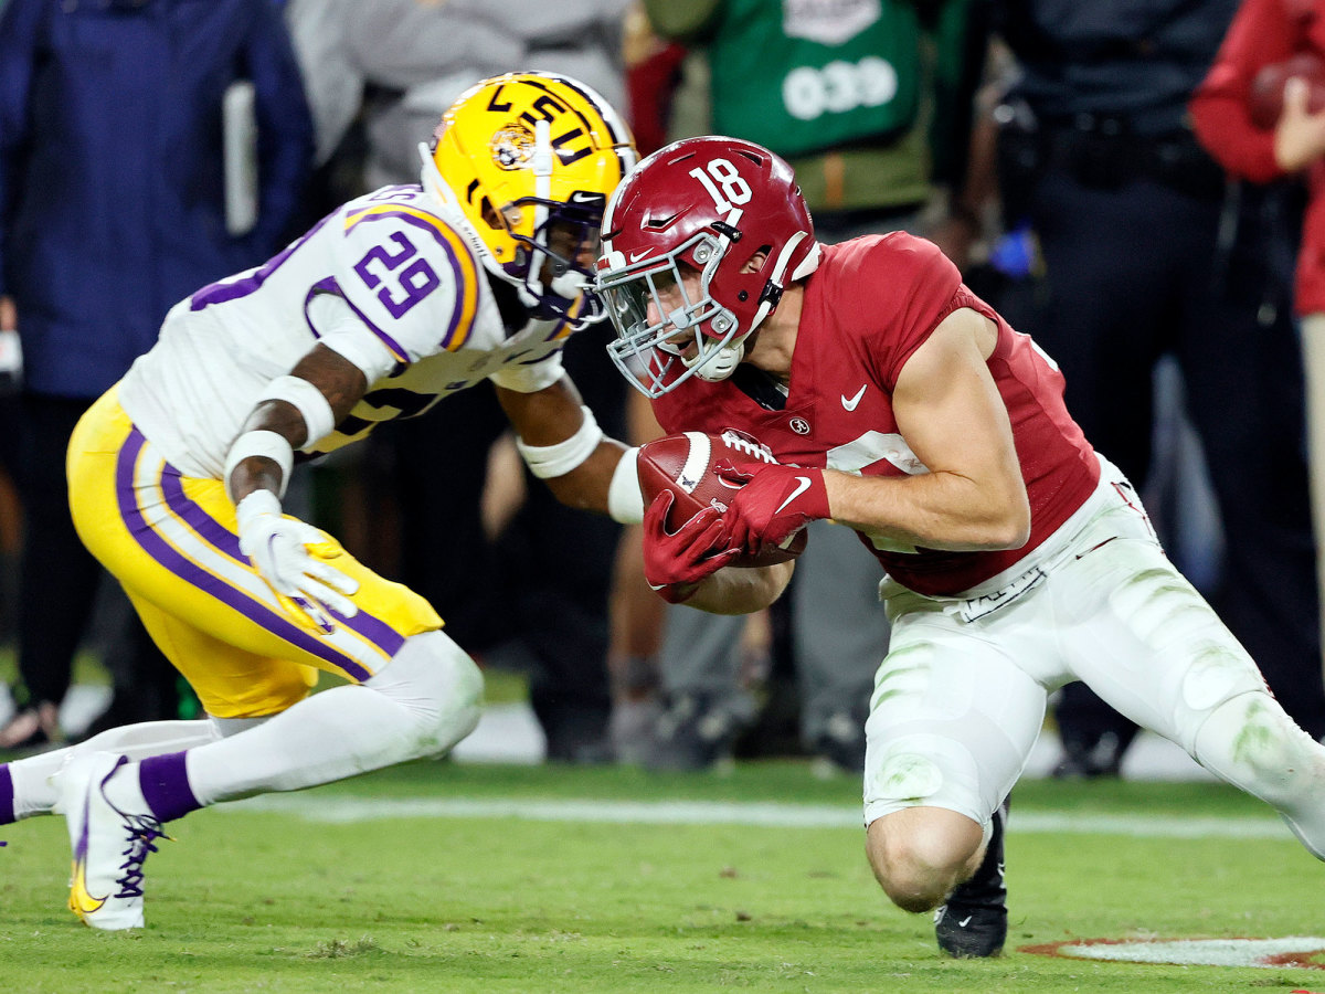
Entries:
{"type": "Polygon", "coordinates": [[[521,392],[555,383],[570,326],[530,321],[507,335],[462,221],[448,219],[417,186],[351,200],[265,265],[175,305],[119,403],[182,473],[219,478],[266,386],[318,342],[370,386],[330,435],[309,440],[313,455],[482,379],[521,392]]]}

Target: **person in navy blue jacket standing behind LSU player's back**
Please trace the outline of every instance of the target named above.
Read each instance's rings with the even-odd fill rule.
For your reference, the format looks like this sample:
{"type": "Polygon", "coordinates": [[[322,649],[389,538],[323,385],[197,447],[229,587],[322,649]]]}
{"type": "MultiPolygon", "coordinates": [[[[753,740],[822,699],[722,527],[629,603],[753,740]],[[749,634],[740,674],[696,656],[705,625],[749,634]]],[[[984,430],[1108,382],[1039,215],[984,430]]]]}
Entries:
{"type": "MultiPolygon", "coordinates": [[[[299,73],[270,0],[0,8],[0,330],[17,327],[25,366],[23,710],[0,746],[58,738],[102,577],[69,517],[76,421],[152,346],[171,305],[280,248],[311,154],[299,73]],[[256,137],[245,140],[249,125],[256,137]],[[227,182],[228,166],[245,172],[246,152],[256,191],[227,182]]],[[[175,675],[132,624],[135,661],[115,675],[114,722],[174,717],[136,706],[144,673],[171,688],[175,675]]]]}

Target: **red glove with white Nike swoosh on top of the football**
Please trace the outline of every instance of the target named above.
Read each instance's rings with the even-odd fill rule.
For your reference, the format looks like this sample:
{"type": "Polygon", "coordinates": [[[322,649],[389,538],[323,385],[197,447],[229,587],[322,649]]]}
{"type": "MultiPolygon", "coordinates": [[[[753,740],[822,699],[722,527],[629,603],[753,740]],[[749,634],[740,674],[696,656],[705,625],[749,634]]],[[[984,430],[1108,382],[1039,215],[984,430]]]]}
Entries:
{"type": "Polygon", "coordinates": [[[822,469],[767,463],[729,463],[714,469],[741,488],[733,490],[726,514],[733,546],[750,553],[782,546],[811,521],[829,516],[822,469]]]}

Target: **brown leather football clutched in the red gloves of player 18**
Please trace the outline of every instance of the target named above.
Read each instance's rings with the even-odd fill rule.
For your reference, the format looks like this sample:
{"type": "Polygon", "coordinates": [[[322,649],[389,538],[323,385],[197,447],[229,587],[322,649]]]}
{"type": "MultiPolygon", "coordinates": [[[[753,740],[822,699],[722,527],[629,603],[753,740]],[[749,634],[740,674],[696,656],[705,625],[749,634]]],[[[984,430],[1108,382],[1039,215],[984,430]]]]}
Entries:
{"type": "MultiPolygon", "coordinates": [[[[644,506],[653,502],[662,490],[674,494],[664,522],[668,531],[676,531],[708,506],[725,512],[734,488],[713,468],[725,459],[749,463],[751,459],[776,463],[772,453],[758,441],[738,431],[721,435],[680,432],[665,435],[640,447],[637,473],[644,506]]],[[[771,566],[794,559],[806,549],[804,529],[794,534],[782,547],[762,553],[742,553],[729,565],[738,567],[771,566]]]]}

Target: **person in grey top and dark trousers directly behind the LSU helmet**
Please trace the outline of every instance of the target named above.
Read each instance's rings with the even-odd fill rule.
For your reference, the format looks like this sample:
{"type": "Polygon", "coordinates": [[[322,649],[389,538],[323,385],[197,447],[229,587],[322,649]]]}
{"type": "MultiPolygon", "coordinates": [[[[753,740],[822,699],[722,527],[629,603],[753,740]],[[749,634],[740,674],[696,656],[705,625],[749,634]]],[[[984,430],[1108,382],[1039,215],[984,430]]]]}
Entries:
{"type": "MultiPolygon", "coordinates": [[[[513,65],[574,77],[621,106],[625,5],[376,0],[351,7],[346,45],[370,87],[367,188],[416,182],[417,146],[441,113],[464,89],[513,65]]],[[[604,362],[610,339],[603,322],[575,335],[563,355],[603,428],[623,437],[627,388],[604,362]]],[[[620,526],[575,514],[547,488],[527,485],[504,533],[489,539],[480,494],[489,452],[507,428],[493,391],[470,390],[453,396],[445,414],[394,424],[366,447],[366,459],[395,480],[391,510],[408,535],[390,553],[399,561],[379,569],[448,604],[448,630],[486,664],[529,673],[547,758],[604,761],[611,758],[608,600],[620,526]],[[439,431],[440,417],[464,423],[465,432],[439,431]]]]}

